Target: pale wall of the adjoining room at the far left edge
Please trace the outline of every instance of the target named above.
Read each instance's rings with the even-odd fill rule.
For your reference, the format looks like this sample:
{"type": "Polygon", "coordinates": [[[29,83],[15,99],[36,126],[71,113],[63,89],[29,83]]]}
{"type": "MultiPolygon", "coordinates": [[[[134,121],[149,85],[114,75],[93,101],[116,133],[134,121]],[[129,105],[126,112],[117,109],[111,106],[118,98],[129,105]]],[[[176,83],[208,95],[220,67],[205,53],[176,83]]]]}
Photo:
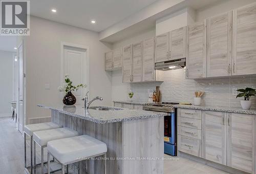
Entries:
{"type": "Polygon", "coordinates": [[[13,52],[0,51],[0,116],[11,116],[13,52]]]}

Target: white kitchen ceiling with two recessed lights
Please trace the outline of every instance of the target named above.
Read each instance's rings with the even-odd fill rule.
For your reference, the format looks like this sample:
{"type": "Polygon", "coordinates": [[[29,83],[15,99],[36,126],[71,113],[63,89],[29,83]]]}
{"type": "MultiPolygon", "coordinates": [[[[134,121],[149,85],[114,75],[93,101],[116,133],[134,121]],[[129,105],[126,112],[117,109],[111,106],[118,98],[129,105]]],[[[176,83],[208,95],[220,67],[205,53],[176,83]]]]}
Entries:
{"type": "Polygon", "coordinates": [[[158,0],[31,0],[31,15],[100,32],[158,0]],[[52,13],[55,8],[57,13],[52,13]],[[92,25],[91,20],[96,20],[92,25]]]}

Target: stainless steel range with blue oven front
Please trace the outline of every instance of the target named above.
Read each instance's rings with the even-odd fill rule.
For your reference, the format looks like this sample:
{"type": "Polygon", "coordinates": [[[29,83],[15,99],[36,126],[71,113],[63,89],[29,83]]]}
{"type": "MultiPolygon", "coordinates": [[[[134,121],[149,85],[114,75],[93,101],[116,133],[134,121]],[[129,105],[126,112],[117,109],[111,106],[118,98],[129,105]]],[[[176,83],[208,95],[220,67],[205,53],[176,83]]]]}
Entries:
{"type": "Polygon", "coordinates": [[[179,103],[146,103],[143,110],[164,112],[164,153],[176,156],[176,125],[177,125],[177,110],[175,104],[179,103]]]}

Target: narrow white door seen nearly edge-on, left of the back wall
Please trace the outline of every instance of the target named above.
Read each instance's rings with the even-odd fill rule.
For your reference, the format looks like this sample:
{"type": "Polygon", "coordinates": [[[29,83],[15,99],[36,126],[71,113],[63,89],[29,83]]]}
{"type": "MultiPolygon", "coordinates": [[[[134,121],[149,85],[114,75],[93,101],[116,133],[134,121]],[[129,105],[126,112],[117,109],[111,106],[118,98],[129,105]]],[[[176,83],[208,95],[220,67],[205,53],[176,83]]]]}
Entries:
{"type": "Polygon", "coordinates": [[[18,130],[23,133],[24,123],[24,70],[23,70],[23,43],[18,47],[18,130]]]}

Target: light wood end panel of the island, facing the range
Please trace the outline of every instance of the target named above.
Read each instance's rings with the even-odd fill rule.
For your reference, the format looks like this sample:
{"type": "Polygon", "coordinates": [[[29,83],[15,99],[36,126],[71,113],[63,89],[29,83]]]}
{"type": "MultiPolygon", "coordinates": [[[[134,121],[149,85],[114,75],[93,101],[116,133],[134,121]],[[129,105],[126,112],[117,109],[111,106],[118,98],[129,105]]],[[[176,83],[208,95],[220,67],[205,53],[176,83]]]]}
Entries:
{"type": "Polygon", "coordinates": [[[131,158],[122,161],[123,174],[163,173],[163,119],[164,117],[156,117],[123,122],[123,158],[131,158]]]}

